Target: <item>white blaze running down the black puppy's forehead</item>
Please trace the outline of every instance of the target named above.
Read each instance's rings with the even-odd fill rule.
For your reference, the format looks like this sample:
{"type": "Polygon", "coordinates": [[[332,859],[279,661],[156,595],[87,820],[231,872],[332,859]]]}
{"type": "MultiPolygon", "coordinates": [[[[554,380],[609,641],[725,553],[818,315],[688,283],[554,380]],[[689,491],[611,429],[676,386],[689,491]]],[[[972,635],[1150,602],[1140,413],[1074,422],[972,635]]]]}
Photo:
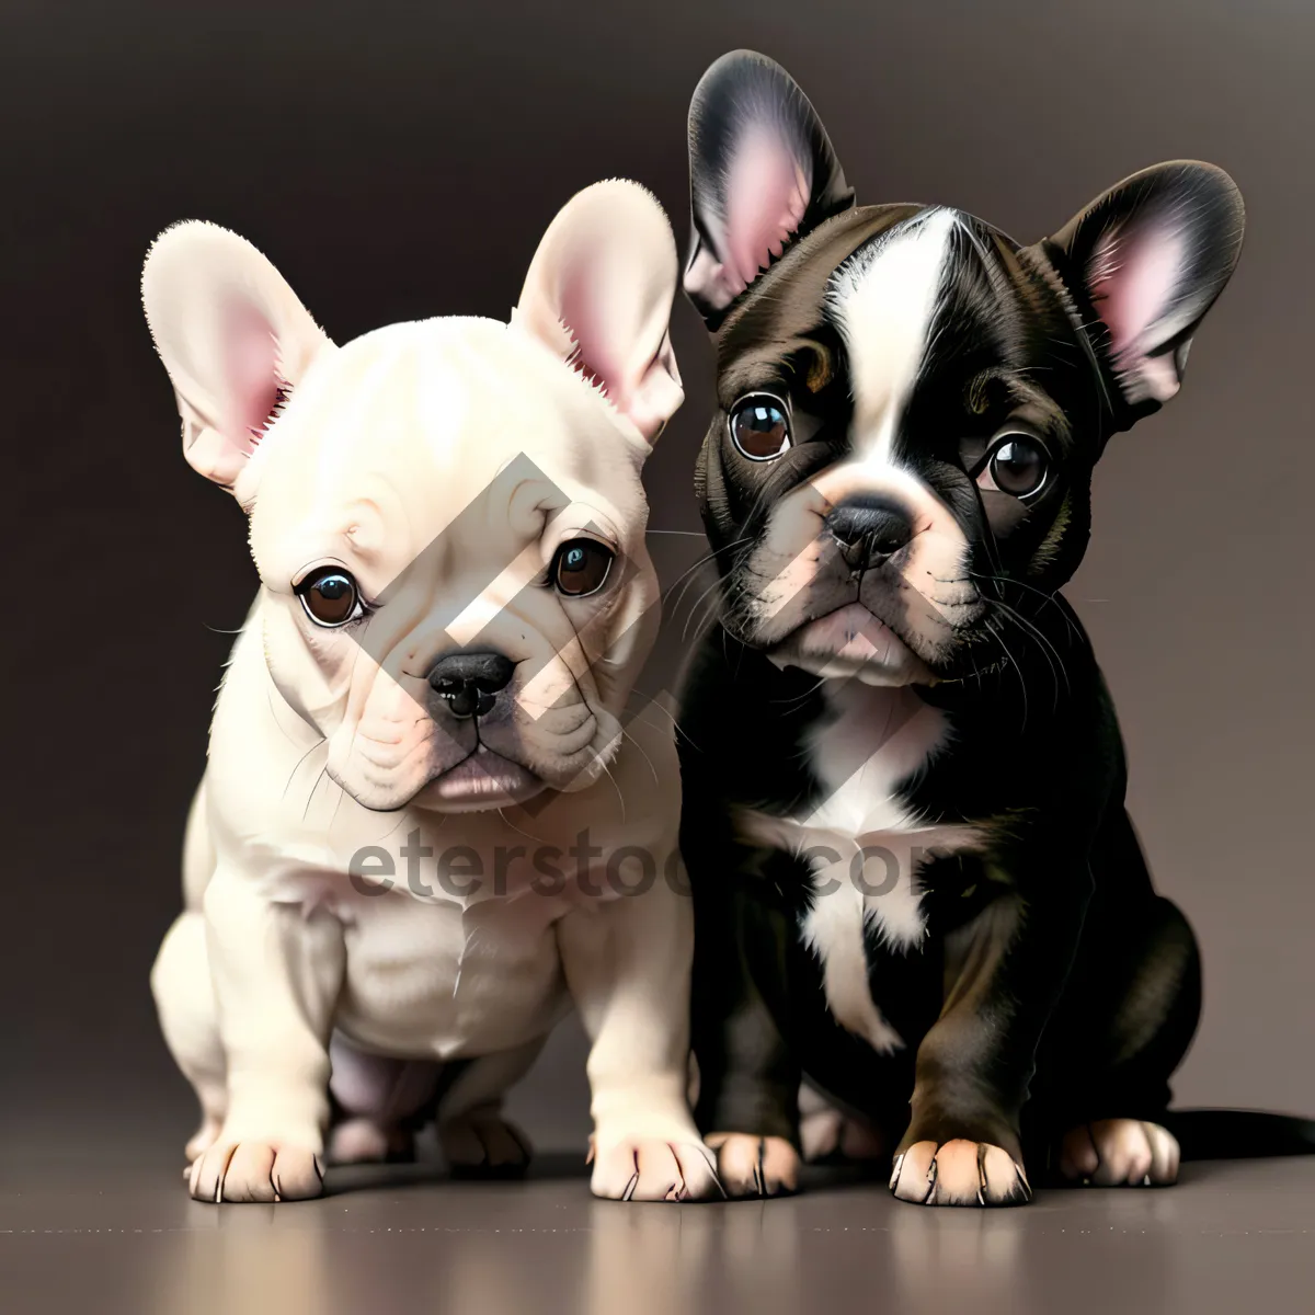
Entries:
{"type": "Polygon", "coordinates": [[[830,309],[849,356],[853,444],[864,455],[889,456],[927,354],[957,222],[953,210],[927,210],[835,275],[830,309]]]}

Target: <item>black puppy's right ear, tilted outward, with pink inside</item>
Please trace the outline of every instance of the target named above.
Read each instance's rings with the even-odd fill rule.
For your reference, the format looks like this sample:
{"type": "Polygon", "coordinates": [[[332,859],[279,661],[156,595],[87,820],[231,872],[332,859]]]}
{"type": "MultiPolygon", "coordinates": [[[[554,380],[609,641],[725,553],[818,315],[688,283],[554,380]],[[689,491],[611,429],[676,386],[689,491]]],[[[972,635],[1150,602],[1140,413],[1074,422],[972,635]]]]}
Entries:
{"type": "Polygon", "coordinates": [[[1241,251],[1244,210],[1214,164],[1174,160],[1134,174],[1040,243],[1077,301],[1110,383],[1114,429],[1178,391],[1191,335],[1241,251]]]}

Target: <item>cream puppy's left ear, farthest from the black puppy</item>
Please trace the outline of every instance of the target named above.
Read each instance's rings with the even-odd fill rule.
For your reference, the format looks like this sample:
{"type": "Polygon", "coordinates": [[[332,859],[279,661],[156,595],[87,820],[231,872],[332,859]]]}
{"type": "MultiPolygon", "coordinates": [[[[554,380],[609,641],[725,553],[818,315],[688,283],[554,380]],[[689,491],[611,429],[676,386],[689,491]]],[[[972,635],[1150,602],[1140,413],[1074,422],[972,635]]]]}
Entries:
{"type": "Polygon", "coordinates": [[[146,256],[142,305],[168,371],[192,467],[247,502],[238,480],[327,337],[250,242],[214,224],[166,229],[146,256]]]}

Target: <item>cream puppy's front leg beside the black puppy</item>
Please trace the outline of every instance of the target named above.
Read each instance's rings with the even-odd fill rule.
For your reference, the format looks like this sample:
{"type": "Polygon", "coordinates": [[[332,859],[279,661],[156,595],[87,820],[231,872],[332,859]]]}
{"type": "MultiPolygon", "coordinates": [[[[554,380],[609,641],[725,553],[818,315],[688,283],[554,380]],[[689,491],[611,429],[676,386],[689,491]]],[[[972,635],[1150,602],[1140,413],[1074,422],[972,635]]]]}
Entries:
{"type": "MultiPolygon", "coordinates": [[[[671,867],[675,860],[659,872],[671,867]]],[[[659,877],[642,894],[577,909],[558,923],[567,986],[592,1043],[590,1186],[598,1197],[719,1194],[713,1156],[686,1102],[689,903],[659,877]]]]}

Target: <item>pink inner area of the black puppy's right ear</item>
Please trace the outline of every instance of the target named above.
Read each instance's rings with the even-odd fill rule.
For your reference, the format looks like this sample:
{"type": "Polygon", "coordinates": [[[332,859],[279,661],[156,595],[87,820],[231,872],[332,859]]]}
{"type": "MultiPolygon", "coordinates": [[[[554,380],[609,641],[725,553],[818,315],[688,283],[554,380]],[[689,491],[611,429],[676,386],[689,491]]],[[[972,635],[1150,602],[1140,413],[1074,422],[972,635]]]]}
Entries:
{"type": "Polygon", "coordinates": [[[1091,255],[1091,293],[1110,330],[1114,355],[1160,343],[1141,337],[1165,313],[1182,277],[1185,238],[1166,220],[1136,234],[1115,229],[1091,255]]]}

